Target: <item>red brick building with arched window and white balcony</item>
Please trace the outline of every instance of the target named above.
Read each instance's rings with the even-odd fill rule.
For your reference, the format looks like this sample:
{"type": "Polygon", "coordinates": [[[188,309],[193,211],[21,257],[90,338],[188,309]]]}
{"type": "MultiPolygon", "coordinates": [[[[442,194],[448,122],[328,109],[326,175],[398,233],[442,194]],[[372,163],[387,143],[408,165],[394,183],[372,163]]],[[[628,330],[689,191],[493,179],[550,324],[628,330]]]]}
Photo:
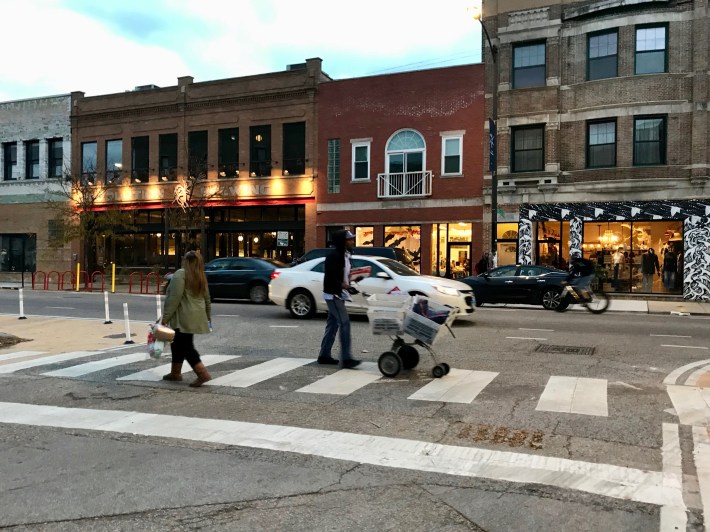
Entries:
{"type": "Polygon", "coordinates": [[[482,253],[483,65],[330,81],[319,93],[318,244],[408,250],[462,276],[482,253]]]}

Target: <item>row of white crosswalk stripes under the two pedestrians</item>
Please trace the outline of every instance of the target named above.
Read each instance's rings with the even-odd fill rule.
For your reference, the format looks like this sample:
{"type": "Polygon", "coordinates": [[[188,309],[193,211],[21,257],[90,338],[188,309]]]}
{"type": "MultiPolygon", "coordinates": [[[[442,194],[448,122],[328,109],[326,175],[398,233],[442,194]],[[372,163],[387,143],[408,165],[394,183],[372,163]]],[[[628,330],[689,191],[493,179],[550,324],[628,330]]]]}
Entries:
{"type": "MultiPolygon", "coordinates": [[[[297,394],[347,396],[374,383],[389,381],[382,376],[375,362],[363,362],[356,369],[339,369],[319,366],[314,360],[307,358],[277,357],[258,363],[242,359],[239,364],[246,367],[231,371],[224,369],[226,362],[238,359],[242,357],[204,355],[203,362],[215,376],[212,381],[206,383],[206,387],[257,388],[260,385],[268,386],[269,382],[286,376],[285,383],[292,387],[289,391],[297,394]],[[244,362],[246,364],[242,364],[244,362]],[[314,373],[307,373],[313,370],[314,373]],[[301,371],[298,379],[289,377],[292,372],[298,371],[301,371]]],[[[170,364],[149,359],[144,352],[117,355],[110,351],[75,351],[61,354],[17,351],[0,355],[0,376],[35,368],[40,375],[47,377],[80,378],[112,370],[114,373],[111,378],[119,382],[159,382],[163,375],[170,371],[170,364]],[[91,360],[82,360],[90,357],[91,360]],[[70,362],[76,363],[66,365],[70,362]],[[45,368],[57,364],[64,367],[45,368]],[[47,371],[42,371],[43,369],[47,371]]],[[[183,372],[189,371],[190,367],[184,364],[183,372]]],[[[410,379],[408,383],[416,384],[419,388],[413,393],[411,387],[408,388],[406,400],[412,403],[475,404],[482,394],[485,397],[486,390],[500,378],[501,375],[493,371],[451,368],[449,374],[440,379],[421,379],[421,383],[417,377],[410,379]]],[[[607,388],[608,383],[604,379],[550,376],[534,409],[562,415],[608,417],[607,388]]]]}

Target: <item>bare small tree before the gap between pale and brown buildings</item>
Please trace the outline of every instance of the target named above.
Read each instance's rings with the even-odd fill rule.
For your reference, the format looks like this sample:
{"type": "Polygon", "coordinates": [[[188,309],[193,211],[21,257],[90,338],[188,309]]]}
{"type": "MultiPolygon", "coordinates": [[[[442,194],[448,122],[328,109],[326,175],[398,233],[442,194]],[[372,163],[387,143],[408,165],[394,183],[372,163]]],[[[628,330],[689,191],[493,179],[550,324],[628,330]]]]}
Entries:
{"type": "Polygon", "coordinates": [[[83,270],[96,271],[97,239],[110,236],[119,229],[130,230],[132,213],[105,201],[109,191],[121,184],[121,173],[107,172],[100,182],[95,169],[72,173],[65,169],[64,176],[47,189],[45,206],[52,211],[55,224],[49,245],[53,247],[79,240],[83,246],[83,270]]]}

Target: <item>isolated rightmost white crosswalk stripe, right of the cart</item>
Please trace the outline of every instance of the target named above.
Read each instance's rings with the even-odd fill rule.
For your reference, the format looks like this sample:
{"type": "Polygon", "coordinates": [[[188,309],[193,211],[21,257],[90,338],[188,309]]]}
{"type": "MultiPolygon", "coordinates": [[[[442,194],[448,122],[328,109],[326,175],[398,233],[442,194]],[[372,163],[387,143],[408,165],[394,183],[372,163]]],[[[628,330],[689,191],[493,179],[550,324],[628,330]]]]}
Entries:
{"type": "Polygon", "coordinates": [[[536,410],[608,417],[607,381],[552,376],[536,410]]]}

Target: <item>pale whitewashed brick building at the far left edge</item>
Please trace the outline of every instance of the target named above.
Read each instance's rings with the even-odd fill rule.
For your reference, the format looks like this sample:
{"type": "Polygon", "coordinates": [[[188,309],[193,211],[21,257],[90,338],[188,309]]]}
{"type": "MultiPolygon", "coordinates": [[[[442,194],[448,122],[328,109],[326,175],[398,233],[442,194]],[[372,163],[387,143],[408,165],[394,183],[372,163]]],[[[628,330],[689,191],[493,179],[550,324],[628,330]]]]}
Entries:
{"type": "Polygon", "coordinates": [[[70,171],[70,109],[68,94],[0,103],[0,281],[71,267],[47,207],[70,171]]]}

